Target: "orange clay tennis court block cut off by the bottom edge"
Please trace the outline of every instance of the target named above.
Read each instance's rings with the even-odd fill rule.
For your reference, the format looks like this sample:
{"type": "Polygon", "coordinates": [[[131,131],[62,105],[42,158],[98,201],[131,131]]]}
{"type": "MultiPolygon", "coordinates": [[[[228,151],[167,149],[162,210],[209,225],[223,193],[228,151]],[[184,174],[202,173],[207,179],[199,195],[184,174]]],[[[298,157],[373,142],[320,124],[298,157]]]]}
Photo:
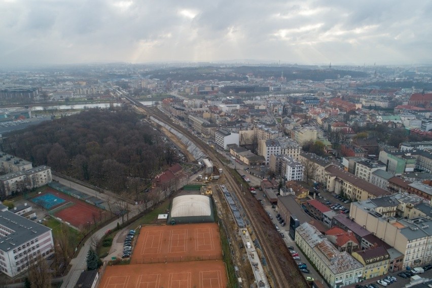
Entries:
{"type": "Polygon", "coordinates": [[[100,288],[225,288],[221,260],[188,263],[131,264],[106,267],[100,288]]]}

